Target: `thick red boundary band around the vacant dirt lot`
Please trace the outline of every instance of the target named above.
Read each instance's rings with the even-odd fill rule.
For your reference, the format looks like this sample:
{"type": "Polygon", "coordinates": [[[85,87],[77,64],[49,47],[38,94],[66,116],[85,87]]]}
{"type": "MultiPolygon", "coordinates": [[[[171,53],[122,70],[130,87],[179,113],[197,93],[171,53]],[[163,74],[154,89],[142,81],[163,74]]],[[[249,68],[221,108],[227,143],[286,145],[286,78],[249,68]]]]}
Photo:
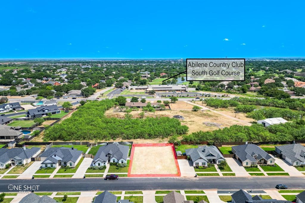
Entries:
{"type": "Polygon", "coordinates": [[[181,172],[177,161],[177,154],[175,153],[175,146],[171,143],[156,143],[156,144],[133,144],[131,148],[131,154],[130,154],[130,162],[129,162],[129,168],[128,168],[128,177],[180,177],[181,172]],[[176,174],[131,174],[131,167],[133,162],[133,156],[135,152],[135,147],[165,147],[170,146],[174,155],[174,161],[177,168],[176,174]]]}

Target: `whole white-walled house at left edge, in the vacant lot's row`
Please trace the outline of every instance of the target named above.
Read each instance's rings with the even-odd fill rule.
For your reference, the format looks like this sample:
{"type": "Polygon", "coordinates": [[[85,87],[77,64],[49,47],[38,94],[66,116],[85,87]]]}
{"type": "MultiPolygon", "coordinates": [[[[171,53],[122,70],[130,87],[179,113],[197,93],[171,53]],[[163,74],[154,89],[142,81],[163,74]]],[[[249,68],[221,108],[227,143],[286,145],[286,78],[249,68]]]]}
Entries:
{"type": "Polygon", "coordinates": [[[31,162],[31,157],[36,157],[40,153],[39,147],[33,148],[0,148],[0,169],[4,169],[6,164],[22,165],[31,162]]]}

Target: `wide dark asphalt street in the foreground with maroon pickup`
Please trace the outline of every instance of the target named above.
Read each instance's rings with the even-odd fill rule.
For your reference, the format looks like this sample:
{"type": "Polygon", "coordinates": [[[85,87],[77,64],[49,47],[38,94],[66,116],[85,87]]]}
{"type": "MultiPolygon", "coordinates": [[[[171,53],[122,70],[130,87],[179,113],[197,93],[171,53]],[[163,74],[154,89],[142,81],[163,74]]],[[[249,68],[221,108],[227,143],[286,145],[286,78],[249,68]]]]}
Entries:
{"type": "Polygon", "coordinates": [[[289,189],[304,189],[304,177],[200,177],[200,178],[120,178],[103,180],[86,179],[1,179],[0,192],[17,192],[8,186],[39,185],[38,191],[122,191],[122,190],[239,190],[274,189],[277,184],[285,184],[289,189]]]}

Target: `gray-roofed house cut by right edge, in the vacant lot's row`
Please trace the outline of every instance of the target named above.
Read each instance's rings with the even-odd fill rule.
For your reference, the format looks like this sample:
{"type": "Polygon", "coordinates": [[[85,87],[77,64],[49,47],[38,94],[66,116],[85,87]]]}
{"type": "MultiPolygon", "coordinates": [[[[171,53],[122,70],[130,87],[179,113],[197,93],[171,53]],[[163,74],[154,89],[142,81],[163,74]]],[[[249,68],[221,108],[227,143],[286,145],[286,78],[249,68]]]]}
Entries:
{"type": "Polygon", "coordinates": [[[276,146],[275,151],[292,166],[305,165],[305,147],[301,144],[276,146]]]}

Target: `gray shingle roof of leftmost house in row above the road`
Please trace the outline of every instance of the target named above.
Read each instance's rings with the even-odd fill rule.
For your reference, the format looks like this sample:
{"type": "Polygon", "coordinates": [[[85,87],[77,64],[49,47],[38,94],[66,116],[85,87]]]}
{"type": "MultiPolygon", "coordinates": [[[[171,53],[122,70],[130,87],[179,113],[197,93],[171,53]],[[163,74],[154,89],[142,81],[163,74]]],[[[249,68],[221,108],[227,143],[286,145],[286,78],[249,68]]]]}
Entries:
{"type": "Polygon", "coordinates": [[[15,157],[19,157],[22,160],[24,160],[26,158],[30,158],[38,151],[40,151],[40,148],[38,147],[33,147],[31,149],[25,148],[25,150],[23,148],[12,148],[12,149],[1,148],[0,162],[6,163],[15,157]]]}

